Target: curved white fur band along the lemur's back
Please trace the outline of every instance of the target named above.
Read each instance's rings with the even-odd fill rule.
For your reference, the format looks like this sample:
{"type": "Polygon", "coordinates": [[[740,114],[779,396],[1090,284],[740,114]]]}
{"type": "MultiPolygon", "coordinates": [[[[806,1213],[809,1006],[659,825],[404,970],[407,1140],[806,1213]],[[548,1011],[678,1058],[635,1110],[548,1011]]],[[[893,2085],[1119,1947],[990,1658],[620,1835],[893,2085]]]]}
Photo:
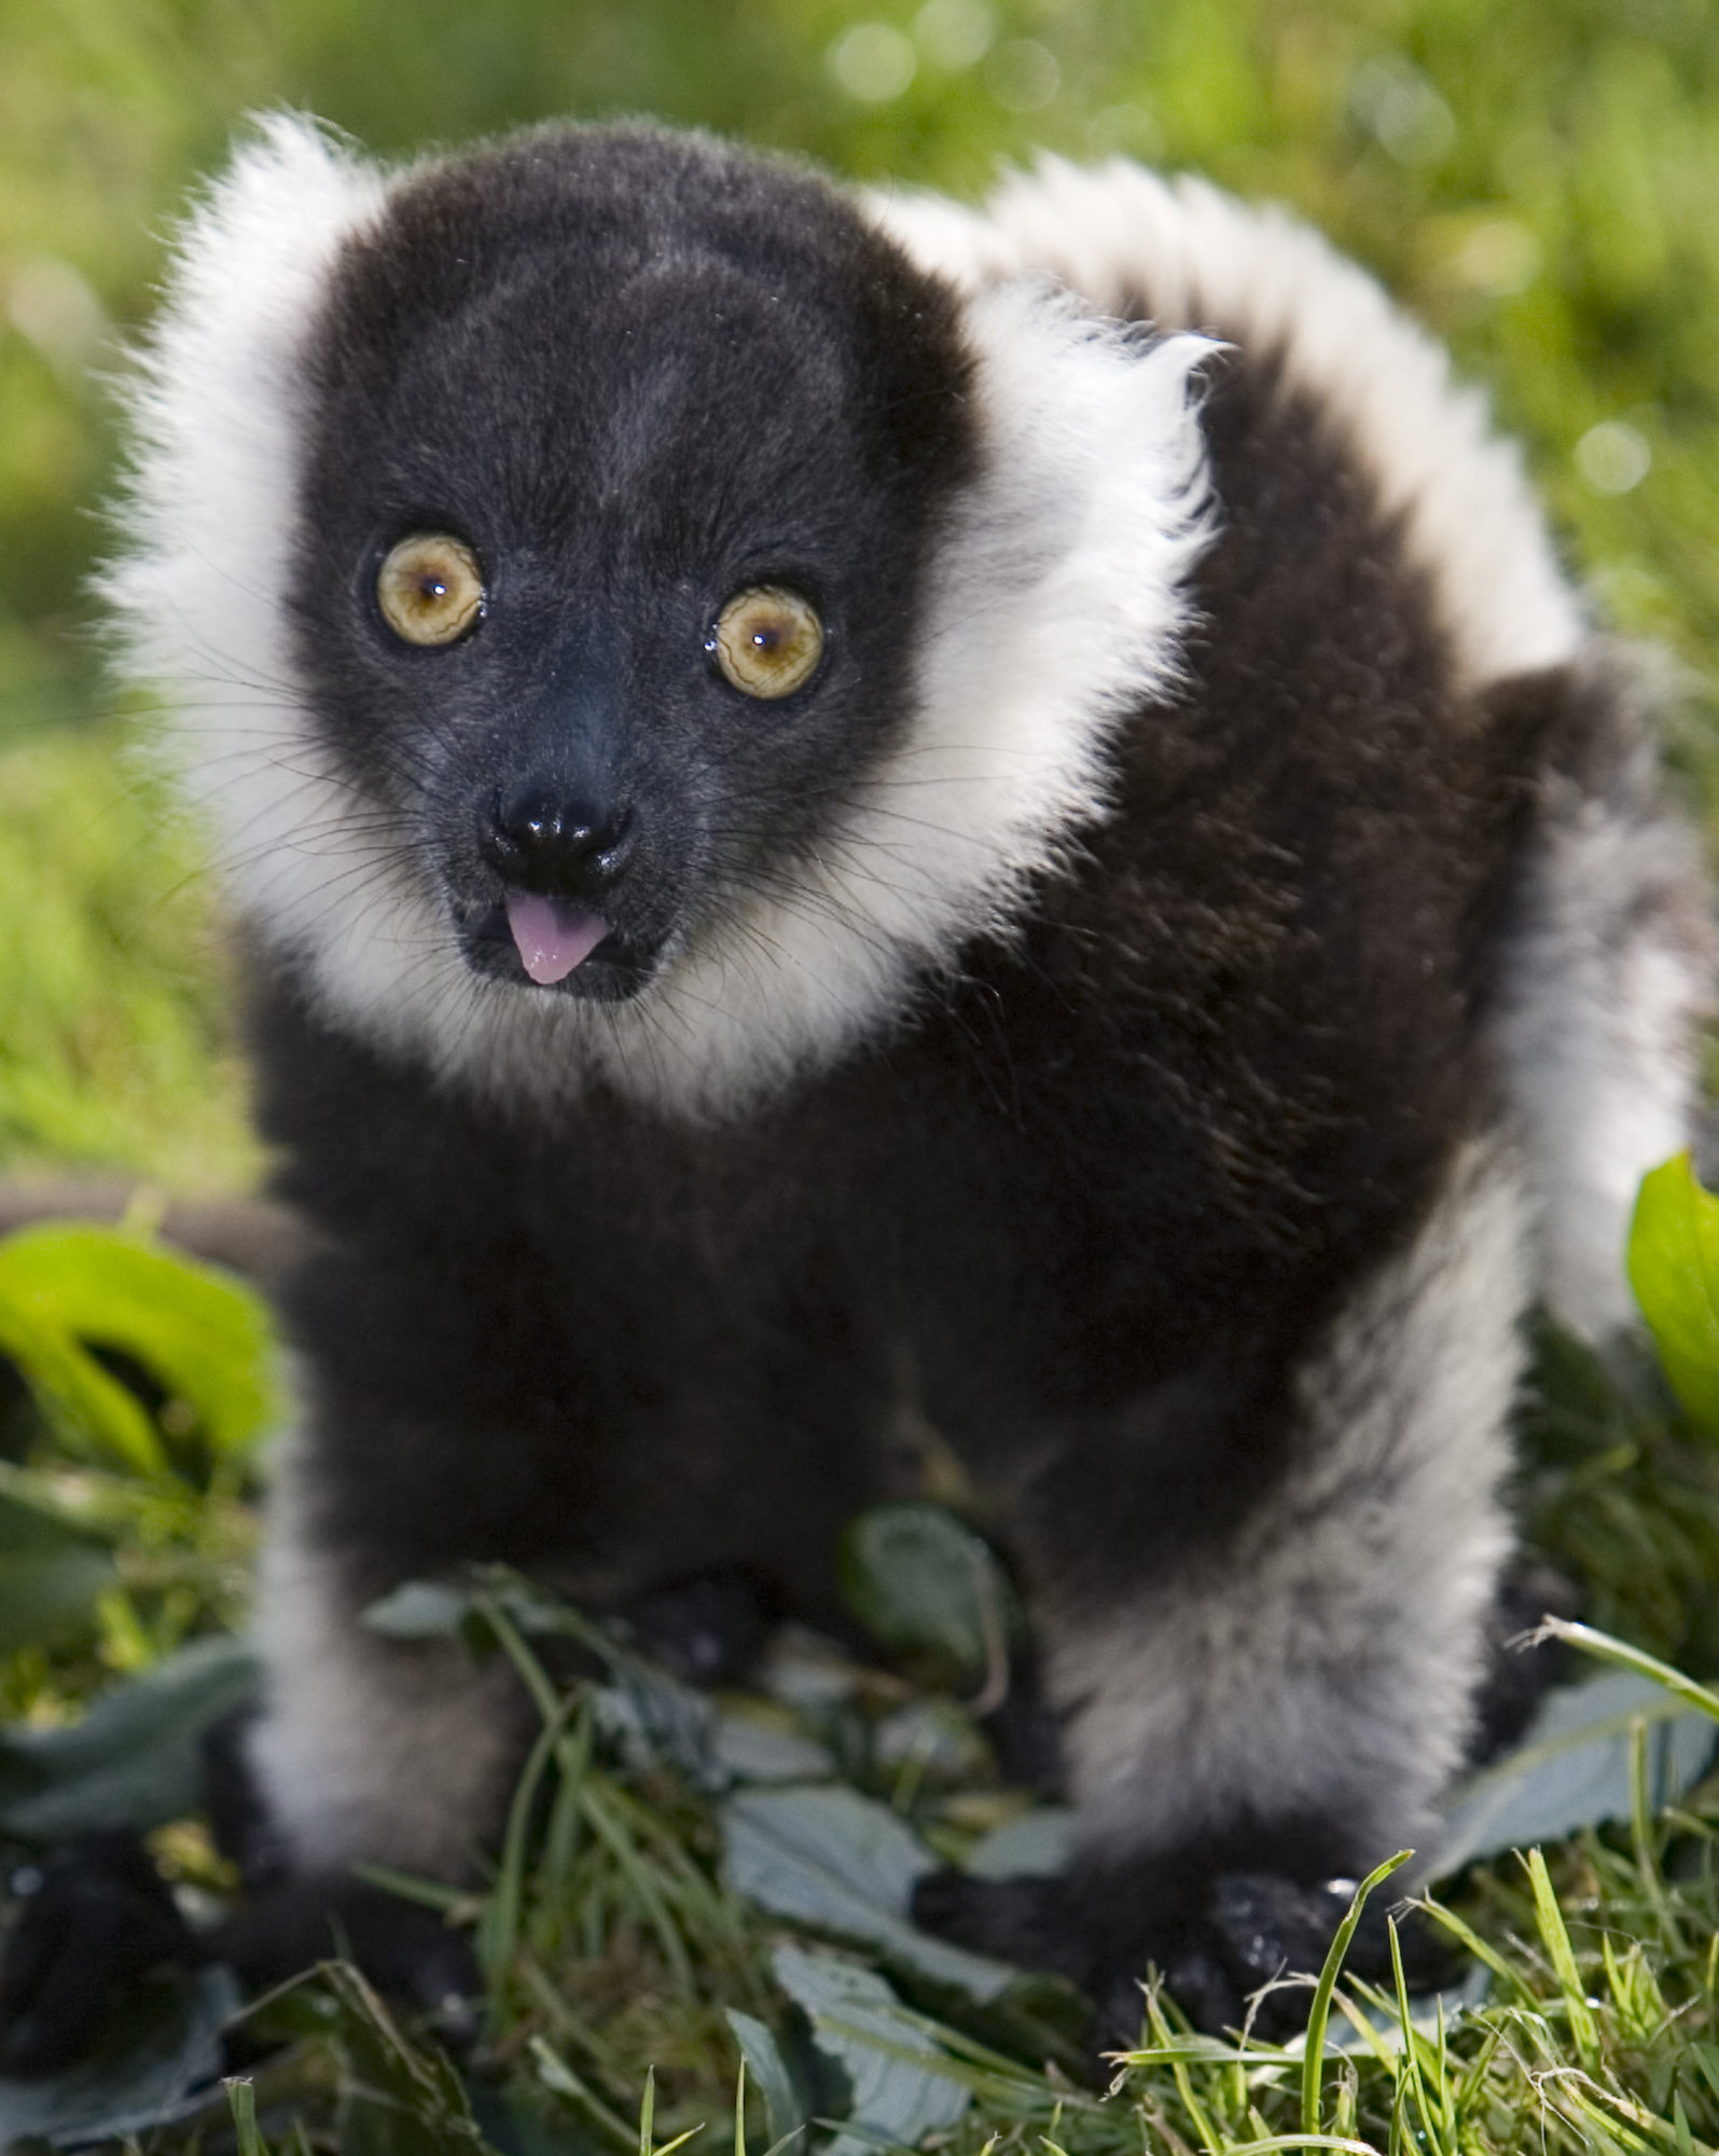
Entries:
{"type": "Polygon", "coordinates": [[[911,194],[875,209],[965,289],[1040,272],[1107,313],[1146,304],[1161,330],[1282,349],[1290,379],[1351,429],[1381,505],[1404,517],[1469,681],[1577,649],[1581,608],[1484,397],[1458,388],[1443,347],[1286,211],[1120,160],[1079,170],[1056,157],[1008,179],[982,213],[911,194]]]}

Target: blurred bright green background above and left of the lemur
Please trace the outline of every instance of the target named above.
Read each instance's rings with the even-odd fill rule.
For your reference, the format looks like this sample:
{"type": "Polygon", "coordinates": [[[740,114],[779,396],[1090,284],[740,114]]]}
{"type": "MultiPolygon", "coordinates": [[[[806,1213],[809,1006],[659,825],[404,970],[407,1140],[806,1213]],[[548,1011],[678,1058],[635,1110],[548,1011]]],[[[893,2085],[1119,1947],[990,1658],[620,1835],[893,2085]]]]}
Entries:
{"type": "Polygon", "coordinates": [[[241,116],[379,153],[655,112],[980,194],[1051,149],[1297,205],[1456,347],[1605,619],[1719,655],[1706,0],[0,0],[0,1171],[246,1179],[220,897],[103,686],[103,386],[241,116]]]}

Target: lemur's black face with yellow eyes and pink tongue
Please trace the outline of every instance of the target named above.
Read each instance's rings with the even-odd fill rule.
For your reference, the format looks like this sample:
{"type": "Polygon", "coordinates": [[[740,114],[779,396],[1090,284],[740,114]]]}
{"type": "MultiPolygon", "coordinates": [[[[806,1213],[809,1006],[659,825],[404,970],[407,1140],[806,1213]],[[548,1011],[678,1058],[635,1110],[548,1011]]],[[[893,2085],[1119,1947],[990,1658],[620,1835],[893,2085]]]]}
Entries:
{"type": "Polygon", "coordinates": [[[429,172],[310,347],[297,671],[375,845],[532,996],[635,996],[816,847],[972,466],[939,289],[825,190],[707,177],[429,172]]]}

